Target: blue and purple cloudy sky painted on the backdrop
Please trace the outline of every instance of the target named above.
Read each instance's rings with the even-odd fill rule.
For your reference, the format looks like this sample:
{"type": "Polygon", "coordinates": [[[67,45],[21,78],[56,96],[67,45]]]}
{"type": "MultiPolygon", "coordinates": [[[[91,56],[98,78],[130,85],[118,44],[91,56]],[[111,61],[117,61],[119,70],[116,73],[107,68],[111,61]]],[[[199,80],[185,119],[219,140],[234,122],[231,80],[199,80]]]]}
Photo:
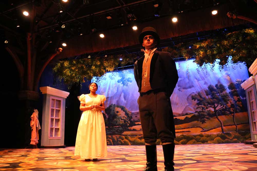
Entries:
{"type": "MultiPolygon", "coordinates": [[[[244,64],[229,63],[227,67],[219,69],[219,65],[215,63],[212,64],[214,66],[212,70],[212,65],[198,68],[193,61],[176,62],[179,80],[170,98],[174,113],[195,112],[196,102],[191,100],[191,95],[204,92],[210,84],[228,86],[236,79],[249,78],[247,67],[244,64]]],[[[92,81],[95,82],[95,78],[92,81]]],[[[137,98],[139,93],[133,69],[106,73],[102,76],[101,82],[97,83],[99,87],[97,93],[107,97],[106,107],[116,104],[123,105],[132,112],[138,111],[137,98]]]]}

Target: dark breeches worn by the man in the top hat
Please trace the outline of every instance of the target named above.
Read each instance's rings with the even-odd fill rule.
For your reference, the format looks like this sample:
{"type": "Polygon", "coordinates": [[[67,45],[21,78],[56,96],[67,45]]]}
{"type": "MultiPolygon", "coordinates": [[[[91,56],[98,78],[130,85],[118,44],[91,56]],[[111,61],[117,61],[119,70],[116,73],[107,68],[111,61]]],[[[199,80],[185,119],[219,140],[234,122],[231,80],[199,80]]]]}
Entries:
{"type": "Polygon", "coordinates": [[[140,95],[138,103],[145,143],[155,143],[157,139],[162,143],[174,143],[172,109],[166,93],[140,95]]]}

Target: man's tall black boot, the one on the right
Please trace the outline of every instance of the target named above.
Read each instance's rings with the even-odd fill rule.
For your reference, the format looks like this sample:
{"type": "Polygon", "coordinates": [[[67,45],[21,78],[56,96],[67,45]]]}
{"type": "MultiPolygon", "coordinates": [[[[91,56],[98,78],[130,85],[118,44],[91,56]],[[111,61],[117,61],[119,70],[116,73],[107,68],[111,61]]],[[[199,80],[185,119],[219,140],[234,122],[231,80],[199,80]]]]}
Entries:
{"type": "Polygon", "coordinates": [[[165,171],[174,171],[174,149],[175,144],[170,143],[166,145],[162,145],[163,149],[163,155],[164,155],[164,165],[165,165],[165,171]]]}

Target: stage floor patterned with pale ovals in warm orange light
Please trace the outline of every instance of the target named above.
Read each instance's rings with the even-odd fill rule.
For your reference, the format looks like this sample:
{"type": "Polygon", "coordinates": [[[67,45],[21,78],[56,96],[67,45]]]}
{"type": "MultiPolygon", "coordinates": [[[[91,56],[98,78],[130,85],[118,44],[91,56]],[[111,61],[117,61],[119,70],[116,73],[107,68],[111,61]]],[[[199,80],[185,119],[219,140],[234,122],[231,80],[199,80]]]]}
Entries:
{"type": "MultiPolygon", "coordinates": [[[[108,157],[86,162],[74,147],[59,149],[0,149],[0,170],[15,171],[142,171],[144,146],[107,146],[108,157]]],[[[162,146],[157,147],[163,171],[162,146]]],[[[248,144],[176,145],[175,171],[257,171],[257,148],[248,144]]]]}

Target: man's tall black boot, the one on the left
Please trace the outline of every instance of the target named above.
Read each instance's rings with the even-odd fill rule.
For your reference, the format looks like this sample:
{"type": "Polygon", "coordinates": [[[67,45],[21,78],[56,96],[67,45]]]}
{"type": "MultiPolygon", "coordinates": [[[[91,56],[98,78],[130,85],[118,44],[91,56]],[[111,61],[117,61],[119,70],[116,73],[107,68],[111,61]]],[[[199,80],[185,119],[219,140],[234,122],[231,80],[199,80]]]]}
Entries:
{"type": "Polygon", "coordinates": [[[156,145],[146,145],[146,167],[143,171],[157,171],[156,145]]]}

